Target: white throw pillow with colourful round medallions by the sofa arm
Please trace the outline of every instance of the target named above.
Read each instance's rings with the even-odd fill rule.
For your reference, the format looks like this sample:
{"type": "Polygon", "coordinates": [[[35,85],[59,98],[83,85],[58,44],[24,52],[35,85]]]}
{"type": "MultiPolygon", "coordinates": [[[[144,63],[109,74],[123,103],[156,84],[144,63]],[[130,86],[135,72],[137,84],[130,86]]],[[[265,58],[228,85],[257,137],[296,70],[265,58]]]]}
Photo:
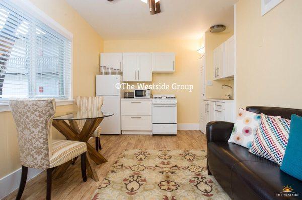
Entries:
{"type": "Polygon", "coordinates": [[[239,108],[236,122],[228,142],[250,148],[254,139],[254,134],[258,128],[259,121],[259,114],[239,108]]]}

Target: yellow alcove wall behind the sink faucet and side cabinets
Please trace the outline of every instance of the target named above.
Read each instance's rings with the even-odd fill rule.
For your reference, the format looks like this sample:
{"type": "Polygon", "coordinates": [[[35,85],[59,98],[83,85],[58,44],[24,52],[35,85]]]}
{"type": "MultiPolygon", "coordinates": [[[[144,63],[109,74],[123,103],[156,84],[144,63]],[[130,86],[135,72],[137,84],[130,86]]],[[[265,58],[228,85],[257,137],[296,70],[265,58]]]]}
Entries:
{"type": "MultiPolygon", "coordinates": [[[[205,94],[206,98],[228,98],[226,95],[231,93],[230,88],[225,87],[222,89],[222,85],[234,86],[234,81],[221,81],[214,79],[214,66],[213,66],[213,51],[216,47],[225,42],[233,35],[233,32],[229,33],[211,33],[205,32],[205,66],[206,66],[206,81],[212,80],[212,85],[206,84],[205,94]]],[[[234,88],[234,87],[233,87],[234,88]]]]}

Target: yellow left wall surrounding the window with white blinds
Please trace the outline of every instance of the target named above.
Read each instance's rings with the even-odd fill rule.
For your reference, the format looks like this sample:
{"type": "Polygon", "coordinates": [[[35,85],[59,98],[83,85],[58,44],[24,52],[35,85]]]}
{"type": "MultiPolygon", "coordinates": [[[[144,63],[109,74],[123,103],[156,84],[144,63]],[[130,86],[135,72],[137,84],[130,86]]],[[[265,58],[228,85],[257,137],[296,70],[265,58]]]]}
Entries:
{"type": "MultiPolygon", "coordinates": [[[[39,9],[73,33],[74,96],[95,95],[102,38],[62,0],[31,0],[39,9]]],[[[72,105],[58,106],[57,111],[71,110],[72,105]]],[[[63,138],[54,131],[54,138],[63,138]]],[[[11,112],[0,112],[0,178],[20,168],[17,133],[11,112]]]]}

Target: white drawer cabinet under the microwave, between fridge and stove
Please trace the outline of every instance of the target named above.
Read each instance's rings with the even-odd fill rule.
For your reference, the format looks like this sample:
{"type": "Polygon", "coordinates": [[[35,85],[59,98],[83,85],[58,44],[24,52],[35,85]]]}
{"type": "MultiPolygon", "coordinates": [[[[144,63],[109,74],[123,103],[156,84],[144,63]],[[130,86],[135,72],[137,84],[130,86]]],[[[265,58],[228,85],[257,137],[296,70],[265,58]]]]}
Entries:
{"type": "Polygon", "coordinates": [[[152,134],[152,100],[122,99],[122,134],[152,134]]]}

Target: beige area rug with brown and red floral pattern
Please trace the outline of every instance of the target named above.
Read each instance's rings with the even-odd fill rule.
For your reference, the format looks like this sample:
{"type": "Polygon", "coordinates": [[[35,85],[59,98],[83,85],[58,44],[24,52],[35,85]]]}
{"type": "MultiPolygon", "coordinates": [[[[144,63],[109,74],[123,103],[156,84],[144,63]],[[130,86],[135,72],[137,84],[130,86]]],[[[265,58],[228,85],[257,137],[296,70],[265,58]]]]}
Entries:
{"type": "Polygon", "coordinates": [[[207,175],[203,150],[124,150],[93,200],[230,199],[207,175]]]}

